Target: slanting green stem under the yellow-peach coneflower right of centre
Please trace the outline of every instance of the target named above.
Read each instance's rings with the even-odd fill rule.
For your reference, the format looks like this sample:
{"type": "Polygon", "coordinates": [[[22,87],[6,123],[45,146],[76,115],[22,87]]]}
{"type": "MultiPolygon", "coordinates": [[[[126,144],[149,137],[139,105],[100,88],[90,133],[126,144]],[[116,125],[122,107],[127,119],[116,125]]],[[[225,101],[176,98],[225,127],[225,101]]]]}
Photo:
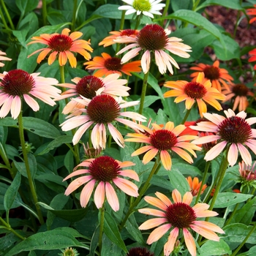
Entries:
{"type": "Polygon", "coordinates": [[[138,206],[138,203],[140,203],[141,197],[143,197],[143,195],[145,194],[145,192],[147,191],[148,187],[149,187],[149,182],[151,181],[151,178],[153,177],[153,175],[155,173],[157,173],[157,171],[159,170],[159,167],[161,166],[161,162],[160,162],[160,157],[159,154],[157,156],[156,161],[154,162],[154,166],[152,167],[151,173],[149,174],[145,184],[143,185],[142,189],[140,190],[140,193],[138,195],[138,197],[136,198],[136,200],[132,203],[131,206],[129,206],[129,210],[127,211],[127,214],[125,215],[123,221],[121,222],[120,226],[119,226],[119,230],[121,231],[122,228],[124,227],[125,223],[127,222],[127,219],[129,218],[129,216],[132,214],[132,212],[134,211],[134,208],[136,206],[138,206]]]}

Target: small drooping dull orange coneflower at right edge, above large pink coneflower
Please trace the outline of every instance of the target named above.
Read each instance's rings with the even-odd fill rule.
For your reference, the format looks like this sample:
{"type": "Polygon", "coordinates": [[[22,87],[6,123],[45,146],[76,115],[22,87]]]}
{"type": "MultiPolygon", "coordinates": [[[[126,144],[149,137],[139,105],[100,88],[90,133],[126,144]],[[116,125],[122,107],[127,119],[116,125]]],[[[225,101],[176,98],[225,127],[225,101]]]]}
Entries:
{"type": "Polygon", "coordinates": [[[249,105],[247,96],[254,97],[253,92],[244,83],[232,84],[229,89],[224,89],[222,94],[226,95],[226,99],[222,101],[223,103],[232,100],[234,111],[237,108],[238,111],[246,110],[249,105]]]}

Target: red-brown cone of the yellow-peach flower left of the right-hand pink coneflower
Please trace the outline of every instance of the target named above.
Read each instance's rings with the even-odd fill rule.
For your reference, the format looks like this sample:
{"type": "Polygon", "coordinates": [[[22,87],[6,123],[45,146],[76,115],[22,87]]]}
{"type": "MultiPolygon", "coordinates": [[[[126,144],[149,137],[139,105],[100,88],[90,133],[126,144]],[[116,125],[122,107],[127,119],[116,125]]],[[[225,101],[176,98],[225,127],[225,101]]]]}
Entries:
{"type": "Polygon", "coordinates": [[[178,142],[176,135],[167,129],[159,129],[150,136],[150,143],[159,150],[171,150],[178,142]]]}

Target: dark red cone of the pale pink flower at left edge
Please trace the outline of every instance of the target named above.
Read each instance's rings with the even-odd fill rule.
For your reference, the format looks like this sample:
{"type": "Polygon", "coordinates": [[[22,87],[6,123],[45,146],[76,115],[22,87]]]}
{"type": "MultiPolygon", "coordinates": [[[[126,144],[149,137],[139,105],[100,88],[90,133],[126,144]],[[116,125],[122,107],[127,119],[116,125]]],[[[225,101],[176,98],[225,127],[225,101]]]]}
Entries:
{"type": "Polygon", "coordinates": [[[22,97],[29,94],[35,85],[34,78],[22,69],[10,70],[1,80],[0,87],[5,94],[22,97]]]}

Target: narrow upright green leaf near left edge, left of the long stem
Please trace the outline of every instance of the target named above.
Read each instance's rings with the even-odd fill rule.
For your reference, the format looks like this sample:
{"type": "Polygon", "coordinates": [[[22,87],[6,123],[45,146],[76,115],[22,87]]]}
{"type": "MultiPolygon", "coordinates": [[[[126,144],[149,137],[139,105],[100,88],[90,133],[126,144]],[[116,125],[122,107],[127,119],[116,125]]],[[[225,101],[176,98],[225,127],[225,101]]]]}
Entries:
{"type": "Polygon", "coordinates": [[[15,178],[12,181],[12,184],[10,184],[10,187],[8,187],[7,192],[4,195],[4,208],[6,211],[9,211],[10,208],[12,208],[12,204],[15,201],[15,198],[18,194],[18,189],[20,187],[20,173],[16,173],[15,178]]]}

